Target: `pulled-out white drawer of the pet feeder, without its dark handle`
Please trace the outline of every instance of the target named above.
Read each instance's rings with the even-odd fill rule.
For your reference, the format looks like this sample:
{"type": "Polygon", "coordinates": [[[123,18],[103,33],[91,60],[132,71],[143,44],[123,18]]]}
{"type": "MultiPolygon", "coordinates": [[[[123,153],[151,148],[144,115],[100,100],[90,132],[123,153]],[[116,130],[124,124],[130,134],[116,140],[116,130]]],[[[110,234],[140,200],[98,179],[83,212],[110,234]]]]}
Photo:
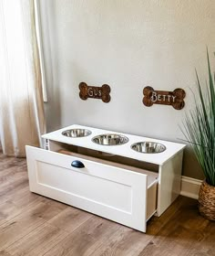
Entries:
{"type": "Polygon", "coordinates": [[[26,146],[32,192],[146,231],[156,211],[158,174],[93,157],[26,146]],[[72,166],[73,161],[83,168],[72,166]]]}

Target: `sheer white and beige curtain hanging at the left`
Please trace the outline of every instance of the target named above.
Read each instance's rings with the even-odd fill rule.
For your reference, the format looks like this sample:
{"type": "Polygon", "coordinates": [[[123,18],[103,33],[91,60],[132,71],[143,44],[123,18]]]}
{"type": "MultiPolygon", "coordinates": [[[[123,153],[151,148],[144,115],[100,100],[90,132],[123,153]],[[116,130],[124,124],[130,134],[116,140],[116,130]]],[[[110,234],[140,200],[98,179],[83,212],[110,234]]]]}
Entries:
{"type": "Polygon", "coordinates": [[[46,132],[34,0],[0,0],[0,141],[25,156],[46,132]]]}

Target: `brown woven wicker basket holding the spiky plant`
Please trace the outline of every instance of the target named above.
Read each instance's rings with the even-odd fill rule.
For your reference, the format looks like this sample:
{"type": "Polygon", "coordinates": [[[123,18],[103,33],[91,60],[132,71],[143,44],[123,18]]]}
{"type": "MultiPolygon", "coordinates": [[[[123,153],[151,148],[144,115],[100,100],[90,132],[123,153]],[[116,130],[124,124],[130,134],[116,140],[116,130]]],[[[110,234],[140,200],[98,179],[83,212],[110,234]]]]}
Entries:
{"type": "Polygon", "coordinates": [[[215,187],[205,180],[200,186],[199,210],[205,219],[215,220],[215,187]]]}

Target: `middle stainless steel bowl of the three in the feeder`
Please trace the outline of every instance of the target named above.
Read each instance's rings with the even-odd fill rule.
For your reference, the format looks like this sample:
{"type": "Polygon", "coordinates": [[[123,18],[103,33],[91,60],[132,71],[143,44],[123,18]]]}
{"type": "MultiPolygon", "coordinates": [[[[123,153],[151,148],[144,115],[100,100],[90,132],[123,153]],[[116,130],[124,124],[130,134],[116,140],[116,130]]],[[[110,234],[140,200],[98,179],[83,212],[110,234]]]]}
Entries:
{"type": "Polygon", "coordinates": [[[128,138],[120,134],[100,134],[92,139],[95,144],[118,145],[128,143],[128,138]]]}

